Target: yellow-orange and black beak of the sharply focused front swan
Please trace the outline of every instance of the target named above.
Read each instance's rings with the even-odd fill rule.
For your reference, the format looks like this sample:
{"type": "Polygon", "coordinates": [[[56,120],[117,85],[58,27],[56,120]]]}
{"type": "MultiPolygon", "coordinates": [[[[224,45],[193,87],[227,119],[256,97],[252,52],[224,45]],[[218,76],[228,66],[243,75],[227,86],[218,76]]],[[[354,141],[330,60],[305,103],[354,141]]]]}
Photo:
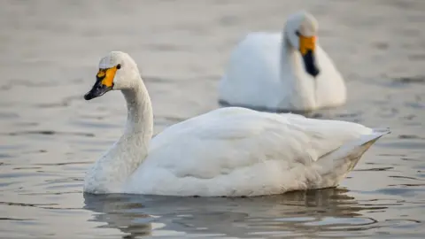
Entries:
{"type": "Polygon", "coordinates": [[[104,93],[112,90],[113,88],[113,78],[117,72],[116,67],[108,69],[99,69],[96,75],[96,82],[93,85],[93,88],[84,95],[85,100],[90,100],[98,96],[103,96],[104,93]]]}

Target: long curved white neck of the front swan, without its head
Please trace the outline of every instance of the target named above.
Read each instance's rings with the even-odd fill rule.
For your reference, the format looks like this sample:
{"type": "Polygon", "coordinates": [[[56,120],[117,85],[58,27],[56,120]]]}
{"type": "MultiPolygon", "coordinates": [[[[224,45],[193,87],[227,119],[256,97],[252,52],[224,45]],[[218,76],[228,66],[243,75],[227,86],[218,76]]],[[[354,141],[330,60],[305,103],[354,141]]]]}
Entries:
{"type": "Polygon", "coordinates": [[[151,98],[140,76],[131,88],[121,89],[128,107],[124,134],[86,174],[84,191],[120,192],[123,183],[147,157],[153,132],[151,98]]]}

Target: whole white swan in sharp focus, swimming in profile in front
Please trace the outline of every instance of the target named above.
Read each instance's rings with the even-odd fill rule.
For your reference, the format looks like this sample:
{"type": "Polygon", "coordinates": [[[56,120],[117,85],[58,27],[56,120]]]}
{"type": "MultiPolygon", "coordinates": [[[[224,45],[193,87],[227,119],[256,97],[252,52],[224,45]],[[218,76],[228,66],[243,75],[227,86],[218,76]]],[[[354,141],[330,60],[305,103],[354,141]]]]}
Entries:
{"type": "Polygon", "coordinates": [[[86,173],[87,193],[251,197],[336,187],[389,133],[352,122],[225,107],[152,138],[151,98],[125,52],[101,58],[97,80],[84,98],[111,90],[125,97],[127,125],[86,173]]]}

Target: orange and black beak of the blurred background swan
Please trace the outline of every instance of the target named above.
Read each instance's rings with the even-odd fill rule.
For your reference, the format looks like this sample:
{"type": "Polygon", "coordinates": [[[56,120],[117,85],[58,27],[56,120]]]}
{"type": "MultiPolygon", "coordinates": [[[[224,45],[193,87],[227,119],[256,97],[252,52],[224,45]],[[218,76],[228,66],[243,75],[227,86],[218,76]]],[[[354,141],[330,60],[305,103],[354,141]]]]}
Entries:
{"type": "Polygon", "coordinates": [[[320,73],[315,59],[316,37],[299,35],[299,52],[303,56],[305,71],[314,78],[320,73]]]}

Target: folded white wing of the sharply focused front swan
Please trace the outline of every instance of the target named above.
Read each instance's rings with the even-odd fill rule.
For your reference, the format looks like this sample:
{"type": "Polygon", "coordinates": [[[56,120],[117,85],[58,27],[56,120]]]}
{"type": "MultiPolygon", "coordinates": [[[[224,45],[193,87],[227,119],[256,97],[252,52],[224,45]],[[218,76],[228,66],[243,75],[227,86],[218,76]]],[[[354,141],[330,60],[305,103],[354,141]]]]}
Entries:
{"type": "MultiPolygon", "coordinates": [[[[310,165],[372,129],[336,120],[224,108],[183,121],[152,140],[146,163],[178,177],[214,178],[267,160],[310,165]]],[[[148,165],[148,164],[147,164],[148,165]]]]}

